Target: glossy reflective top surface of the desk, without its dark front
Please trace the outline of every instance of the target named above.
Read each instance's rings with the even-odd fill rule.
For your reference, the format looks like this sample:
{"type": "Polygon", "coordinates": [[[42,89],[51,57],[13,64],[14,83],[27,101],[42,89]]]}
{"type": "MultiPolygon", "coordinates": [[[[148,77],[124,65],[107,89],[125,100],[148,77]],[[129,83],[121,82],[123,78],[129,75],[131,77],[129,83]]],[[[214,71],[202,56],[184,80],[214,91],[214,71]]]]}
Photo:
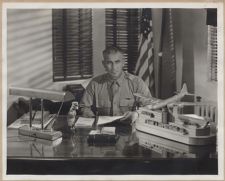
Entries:
{"type": "MultiPolygon", "coordinates": [[[[217,158],[216,146],[189,146],[139,132],[130,125],[116,126],[119,136],[115,145],[89,145],[91,129],[69,129],[66,116],[60,116],[55,130],[63,133],[54,142],[18,135],[7,131],[7,157],[13,159],[154,159],[154,158],[217,158]]],[[[92,128],[94,129],[94,128],[92,128]]]]}

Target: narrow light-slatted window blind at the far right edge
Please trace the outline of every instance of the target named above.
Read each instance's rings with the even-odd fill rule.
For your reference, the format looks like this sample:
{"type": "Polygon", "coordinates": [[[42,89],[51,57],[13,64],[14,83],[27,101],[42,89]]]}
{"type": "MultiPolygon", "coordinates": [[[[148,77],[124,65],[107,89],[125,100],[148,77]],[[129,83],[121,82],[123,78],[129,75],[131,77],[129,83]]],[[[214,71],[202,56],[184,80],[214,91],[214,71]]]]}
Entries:
{"type": "Polygon", "coordinates": [[[209,79],[217,81],[217,27],[208,25],[209,79]]]}

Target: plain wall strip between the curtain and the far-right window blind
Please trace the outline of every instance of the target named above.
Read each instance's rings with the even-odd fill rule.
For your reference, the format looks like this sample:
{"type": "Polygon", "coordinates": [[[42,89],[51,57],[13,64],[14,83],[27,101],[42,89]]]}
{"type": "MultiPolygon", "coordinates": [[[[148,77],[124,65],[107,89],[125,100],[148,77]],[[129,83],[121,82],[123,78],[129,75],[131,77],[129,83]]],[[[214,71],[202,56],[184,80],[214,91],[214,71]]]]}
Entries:
{"type": "Polygon", "coordinates": [[[206,10],[193,12],[195,93],[206,101],[217,100],[217,82],[209,81],[209,62],[207,60],[206,10]]]}

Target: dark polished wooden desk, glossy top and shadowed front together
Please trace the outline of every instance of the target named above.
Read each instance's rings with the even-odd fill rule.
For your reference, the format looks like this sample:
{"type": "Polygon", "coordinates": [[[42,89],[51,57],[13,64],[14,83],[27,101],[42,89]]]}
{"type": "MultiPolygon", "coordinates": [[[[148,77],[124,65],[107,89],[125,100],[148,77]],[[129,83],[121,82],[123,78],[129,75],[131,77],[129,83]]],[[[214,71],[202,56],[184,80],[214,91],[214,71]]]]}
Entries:
{"type": "Polygon", "coordinates": [[[58,143],[22,137],[7,131],[7,174],[217,174],[216,146],[193,147],[133,132],[118,126],[115,145],[90,146],[90,130],[71,131],[66,117],[55,122],[63,132],[58,143]]]}

